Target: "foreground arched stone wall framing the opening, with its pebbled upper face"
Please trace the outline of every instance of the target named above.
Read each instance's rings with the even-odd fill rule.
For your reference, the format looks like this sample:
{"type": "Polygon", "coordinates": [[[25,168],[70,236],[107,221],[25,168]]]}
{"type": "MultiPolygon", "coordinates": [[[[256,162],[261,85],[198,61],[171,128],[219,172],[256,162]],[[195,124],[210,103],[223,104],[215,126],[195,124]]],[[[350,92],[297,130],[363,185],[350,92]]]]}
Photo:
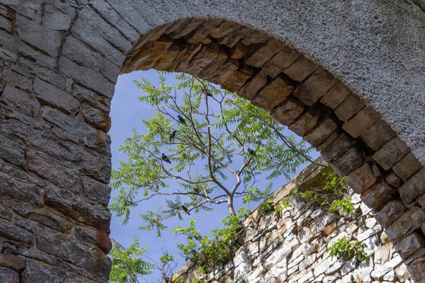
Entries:
{"type": "Polygon", "coordinates": [[[107,281],[108,112],[120,71],[150,68],[198,74],[271,110],[350,175],[412,277],[424,279],[419,6],[0,4],[1,282],[107,281]]]}

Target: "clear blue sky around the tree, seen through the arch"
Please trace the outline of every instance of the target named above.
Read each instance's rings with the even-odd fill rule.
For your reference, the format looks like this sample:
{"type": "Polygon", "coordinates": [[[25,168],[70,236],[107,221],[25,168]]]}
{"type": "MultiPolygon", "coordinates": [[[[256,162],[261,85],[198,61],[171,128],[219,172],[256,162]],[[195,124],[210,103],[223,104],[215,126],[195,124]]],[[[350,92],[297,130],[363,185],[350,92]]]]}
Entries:
{"type": "MultiPolygon", "coordinates": [[[[117,168],[119,166],[120,160],[125,160],[126,156],[124,154],[120,154],[118,152],[118,147],[124,143],[124,140],[127,137],[132,136],[132,128],[135,127],[137,132],[144,132],[145,129],[142,127],[142,123],[140,120],[147,119],[151,115],[154,114],[153,111],[149,111],[147,105],[144,105],[139,102],[137,99],[142,93],[140,89],[135,86],[133,80],[140,81],[142,77],[148,79],[153,85],[158,85],[158,75],[156,71],[134,71],[131,74],[124,74],[118,77],[118,82],[115,86],[115,96],[113,96],[112,100],[112,108],[111,108],[111,118],[112,118],[112,127],[109,132],[111,134],[112,144],[112,166],[113,168],[117,168]]],[[[175,74],[170,74],[167,76],[167,83],[174,83],[176,80],[174,79],[175,74]]],[[[289,131],[288,133],[289,134],[289,131]]],[[[313,158],[318,157],[317,151],[312,152],[313,158]]],[[[302,170],[299,168],[298,171],[302,170]]],[[[287,183],[288,180],[279,180],[274,181],[273,188],[274,190],[278,189],[281,185],[287,183]]],[[[265,185],[265,184],[264,184],[265,185]]],[[[259,184],[261,186],[261,184],[259,184]]],[[[117,192],[113,191],[112,196],[116,195],[117,192]]],[[[112,199],[111,199],[112,200],[112,199]]],[[[115,241],[120,242],[123,246],[130,246],[133,242],[133,235],[136,235],[140,239],[141,246],[149,246],[149,250],[147,250],[147,257],[152,258],[153,260],[159,261],[159,257],[162,255],[162,251],[165,248],[169,251],[170,254],[175,254],[178,252],[176,249],[176,243],[181,243],[183,238],[176,238],[174,233],[171,233],[171,229],[176,226],[183,226],[183,228],[188,227],[189,220],[194,218],[196,221],[196,228],[201,231],[203,234],[208,234],[213,229],[221,226],[222,219],[228,215],[227,207],[223,204],[220,207],[216,207],[214,212],[200,212],[200,214],[195,214],[192,216],[186,216],[184,221],[178,221],[177,219],[173,221],[169,221],[167,226],[171,229],[167,232],[165,231],[162,235],[162,238],[157,238],[156,231],[140,231],[138,229],[141,226],[142,220],[140,216],[137,214],[140,212],[145,212],[147,209],[157,210],[159,205],[159,200],[149,200],[149,202],[144,202],[140,207],[134,209],[132,211],[132,217],[130,218],[130,222],[125,226],[120,226],[120,221],[122,219],[118,219],[113,215],[111,221],[111,238],[115,241]]],[[[254,206],[255,207],[255,206],[254,206]]],[[[254,207],[251,207],[253,209],[254,207]]],[[[185,264],[183,258],[179,258],[179,267],[185,264]]],[[[159,274],[155,272],[153,275],[146,278],[147,281],[150,282],[159,282],[159,274]]]]}

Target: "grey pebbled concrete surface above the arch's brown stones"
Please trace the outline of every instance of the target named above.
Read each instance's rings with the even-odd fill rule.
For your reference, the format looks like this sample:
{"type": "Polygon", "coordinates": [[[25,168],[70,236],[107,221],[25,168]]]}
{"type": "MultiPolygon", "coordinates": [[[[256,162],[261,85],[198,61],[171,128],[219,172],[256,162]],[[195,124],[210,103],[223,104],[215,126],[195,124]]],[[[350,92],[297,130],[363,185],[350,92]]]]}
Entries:
{"type": "MultiPolygon", "coordinates": [[[[380,111],[425,164],[424,0],[106,0],[140,33],[179,18],[263,30],[322,64],[380,111]]],[[[91,5],[96,6],[92,1],[91,5]]]]}

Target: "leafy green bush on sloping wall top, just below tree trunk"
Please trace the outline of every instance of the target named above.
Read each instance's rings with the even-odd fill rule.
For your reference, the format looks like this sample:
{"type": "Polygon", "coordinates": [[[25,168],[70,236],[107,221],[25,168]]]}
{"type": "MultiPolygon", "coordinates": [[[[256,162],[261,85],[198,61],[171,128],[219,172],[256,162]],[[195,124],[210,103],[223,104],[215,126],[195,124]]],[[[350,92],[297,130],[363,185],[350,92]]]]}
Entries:
{"type": "Polygon", "coordinates": [[[198,265],[200,270],[206,271],[217,265],[228,262],[234,255],[234,240],[237,238],[237,232],[240,229],[242,219],[246,217],[249,211],[244,208],[239,209],[237,215],[227,216],[222,222],[224,226],[212,231],[212,235],[201,236],[195,229],[195,220],[191,220],[191,226],[183,229],[181,226],[174,229],[176,235],[186,236],[186,244],[179,244],[177,248],[181,250],[183,257],[191,260],[198,265]]]}

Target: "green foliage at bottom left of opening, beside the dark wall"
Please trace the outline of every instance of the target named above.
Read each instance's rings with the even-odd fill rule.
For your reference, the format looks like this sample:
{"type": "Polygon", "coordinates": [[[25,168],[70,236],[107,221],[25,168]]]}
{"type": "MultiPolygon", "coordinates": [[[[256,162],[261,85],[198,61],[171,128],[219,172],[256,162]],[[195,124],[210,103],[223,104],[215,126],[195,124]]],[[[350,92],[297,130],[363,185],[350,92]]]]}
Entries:
{"type": "Polygon", "coordinates": [[[140,258],[146,250],[147,247],[140,248],[136,236],[130,248],[124,248],[120,243],[113,241],[110,253],[112,262],[110,282],[135,283],[137,277],[151,274],[154,265],[140,258]]]}

